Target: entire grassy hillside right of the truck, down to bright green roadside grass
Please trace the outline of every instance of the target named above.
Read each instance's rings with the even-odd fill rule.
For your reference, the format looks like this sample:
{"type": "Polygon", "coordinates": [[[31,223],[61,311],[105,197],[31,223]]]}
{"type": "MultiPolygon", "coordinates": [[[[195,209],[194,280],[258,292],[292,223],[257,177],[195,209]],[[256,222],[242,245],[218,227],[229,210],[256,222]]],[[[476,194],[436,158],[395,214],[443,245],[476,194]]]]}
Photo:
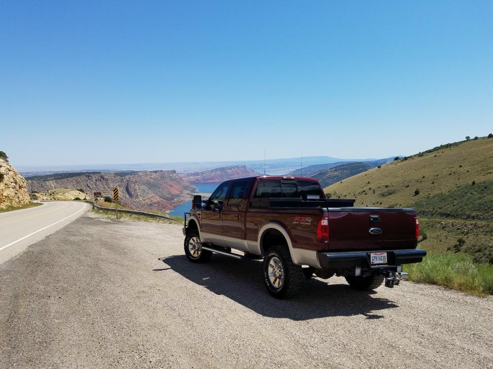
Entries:
{"type": "Polygon", "coordinates": [[[412,280],[493,293],[493,138],[442,145],[324,191],[356,206],[415,208],[428,256],[405,268],[412,280]]]}

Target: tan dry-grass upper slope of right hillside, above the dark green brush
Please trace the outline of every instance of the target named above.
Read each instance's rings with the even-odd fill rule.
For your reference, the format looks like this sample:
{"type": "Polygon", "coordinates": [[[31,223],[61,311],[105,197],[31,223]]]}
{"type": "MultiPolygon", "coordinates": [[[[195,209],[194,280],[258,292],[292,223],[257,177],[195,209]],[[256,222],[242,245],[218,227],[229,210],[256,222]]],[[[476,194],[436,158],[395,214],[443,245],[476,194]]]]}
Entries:
{"type": "MultiPolygon", "coordinates": [[[[370,169],[326,187],[325,192],[335,198],[354,198],[356,206],[402,207],[420,203],[424,207],[427,197],[436,199],[440,194],[464,191],[463,186],[472,186],[473,181],[483,186],[492,180],[493,139],[480,138],[370,169]]],[[[486,202],[477,197],[477,204],[486,202]]]]}

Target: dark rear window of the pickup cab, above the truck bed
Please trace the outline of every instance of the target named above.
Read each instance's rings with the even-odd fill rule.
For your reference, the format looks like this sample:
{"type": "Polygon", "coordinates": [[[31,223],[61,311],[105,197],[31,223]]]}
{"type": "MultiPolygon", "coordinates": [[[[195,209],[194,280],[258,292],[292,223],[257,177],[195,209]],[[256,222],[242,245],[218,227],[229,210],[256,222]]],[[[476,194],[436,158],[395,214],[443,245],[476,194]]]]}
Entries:
{"type": "Polygon", "coordinates": [[[312,181],[259,181],[254,198],[302,198],[304,200],[323,198],[317,182],[312,181]]]}

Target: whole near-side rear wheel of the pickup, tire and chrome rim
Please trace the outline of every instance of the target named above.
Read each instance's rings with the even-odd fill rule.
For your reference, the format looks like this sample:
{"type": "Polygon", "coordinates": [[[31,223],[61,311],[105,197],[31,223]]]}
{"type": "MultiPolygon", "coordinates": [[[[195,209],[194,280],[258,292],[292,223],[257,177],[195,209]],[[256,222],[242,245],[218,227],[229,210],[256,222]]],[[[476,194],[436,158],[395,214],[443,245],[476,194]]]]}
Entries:
{"type": "Polygon", "coordinates": [[[264,256],[264,282],[269,293],[285,299],[296,295],[305,281],[301,267],[293,264],[286,246],[274,246],[264,256]]]}

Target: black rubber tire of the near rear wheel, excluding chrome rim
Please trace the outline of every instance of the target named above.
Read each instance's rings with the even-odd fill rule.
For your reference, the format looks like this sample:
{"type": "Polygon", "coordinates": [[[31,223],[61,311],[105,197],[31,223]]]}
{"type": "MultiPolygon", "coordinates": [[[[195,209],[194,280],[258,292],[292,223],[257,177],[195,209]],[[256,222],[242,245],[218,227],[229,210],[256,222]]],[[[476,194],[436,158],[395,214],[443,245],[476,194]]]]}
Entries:
{"type": "Polygon", "coordinates": [[[269,248],[264,256],[263,262],[264,284],[269,293],[278,299],[287,299],[296,295],[303,286],[306,278],[301,266],[295,265],[286,246],[273,246],[269,248]],[[273,257],[282,263],[284,279],[279,288],[275,288],[269,279],[269,263],[273,257]]]}

